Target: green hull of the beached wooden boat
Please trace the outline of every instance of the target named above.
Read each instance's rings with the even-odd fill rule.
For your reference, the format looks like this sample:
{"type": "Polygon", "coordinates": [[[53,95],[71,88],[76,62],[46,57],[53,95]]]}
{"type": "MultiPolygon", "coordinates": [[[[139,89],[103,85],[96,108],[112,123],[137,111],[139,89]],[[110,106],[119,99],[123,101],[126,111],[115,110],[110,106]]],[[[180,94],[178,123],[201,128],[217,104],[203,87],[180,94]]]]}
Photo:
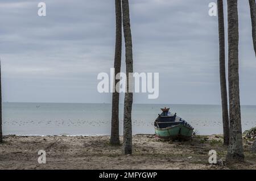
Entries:
{"type": "Polygon", "coordinates": [[[156,137],[162,140],[189,140],[193,134],[193,128],[186,127],[183,124],[168,128],[156,128],[156,137]]]}

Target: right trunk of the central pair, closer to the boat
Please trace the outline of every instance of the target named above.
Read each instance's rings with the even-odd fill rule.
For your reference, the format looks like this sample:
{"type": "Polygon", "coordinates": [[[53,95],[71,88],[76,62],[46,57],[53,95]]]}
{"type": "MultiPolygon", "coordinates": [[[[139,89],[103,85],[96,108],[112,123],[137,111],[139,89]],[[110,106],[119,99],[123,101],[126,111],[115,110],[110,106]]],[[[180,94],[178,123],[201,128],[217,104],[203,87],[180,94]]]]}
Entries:
{"type": "Polygon", "coordinates": [[[133,44],[131,41],[129,1],[122,0],[123,33],[125,36],[126,93],[123,111],[123,154],[132,153],[131,108],[133,106],[133,44]]]}

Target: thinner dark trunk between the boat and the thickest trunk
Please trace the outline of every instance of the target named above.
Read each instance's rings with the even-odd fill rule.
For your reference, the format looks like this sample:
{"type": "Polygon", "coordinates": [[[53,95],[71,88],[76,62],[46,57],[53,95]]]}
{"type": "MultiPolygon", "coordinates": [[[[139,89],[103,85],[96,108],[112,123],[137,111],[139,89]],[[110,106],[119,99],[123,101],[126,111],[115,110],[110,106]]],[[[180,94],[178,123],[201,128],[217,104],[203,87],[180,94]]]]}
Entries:
{"type": "Polygon", "coordinates": [[[222,104],[222,122],[224,145],[229,145],[229,112],[228,96],[226,90],[226,67],[225,67],[225,28],[223,1],[218,0],[218,36],[220,44],[220,86],[221,86],[221,104],[222,104]]]}

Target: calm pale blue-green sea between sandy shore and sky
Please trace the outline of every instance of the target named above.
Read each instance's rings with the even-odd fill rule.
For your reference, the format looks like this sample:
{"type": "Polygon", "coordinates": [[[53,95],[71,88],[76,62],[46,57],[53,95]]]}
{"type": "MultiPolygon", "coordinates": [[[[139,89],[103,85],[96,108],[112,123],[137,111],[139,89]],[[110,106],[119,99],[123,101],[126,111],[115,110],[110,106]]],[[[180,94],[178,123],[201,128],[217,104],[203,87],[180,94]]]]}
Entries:
{"type": "MultiPolygon", "coordinates": [[[[133,134],[154,133],[160,108],[187,120],[199,134],[222,133],[221,106],[134,104],[133,134]]],[[[110,134],[111,104],[3,103],[3,134],[101,135],[110,134]]],[[[242,129],[256,125],[256,106],[242,106],[242,129]]],[[[123,105],[120,110],[122,134],[123,105]]]]}

